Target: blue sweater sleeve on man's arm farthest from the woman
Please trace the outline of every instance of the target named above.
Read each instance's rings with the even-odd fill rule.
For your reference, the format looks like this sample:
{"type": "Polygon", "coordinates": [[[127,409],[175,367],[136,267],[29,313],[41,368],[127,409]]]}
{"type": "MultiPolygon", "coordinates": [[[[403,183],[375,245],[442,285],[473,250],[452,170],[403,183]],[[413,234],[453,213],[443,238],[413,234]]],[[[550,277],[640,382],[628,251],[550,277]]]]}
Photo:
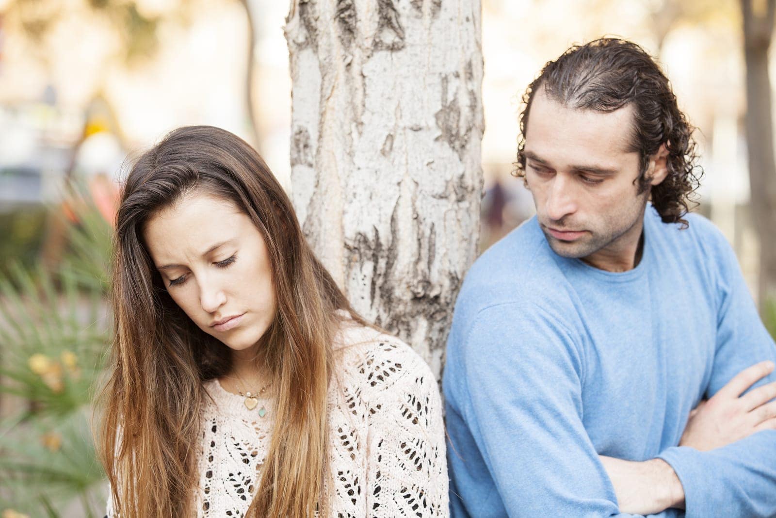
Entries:
{"type": "MultiPolygon", "coordinates": [[[[733,250],[722,240],[718,237],[713,251],[722,261],[715,280],[719,309],[707,398],[750,365],[776,362],[776,344],[757,314],[733,250]]],[[[754,386],[773,381],[776,372],[754,386]]],[[[776,430],[760,431],[712,451],[671,447],[660,458],[681,480],[688,518],[776,516],[776,430]]]]}

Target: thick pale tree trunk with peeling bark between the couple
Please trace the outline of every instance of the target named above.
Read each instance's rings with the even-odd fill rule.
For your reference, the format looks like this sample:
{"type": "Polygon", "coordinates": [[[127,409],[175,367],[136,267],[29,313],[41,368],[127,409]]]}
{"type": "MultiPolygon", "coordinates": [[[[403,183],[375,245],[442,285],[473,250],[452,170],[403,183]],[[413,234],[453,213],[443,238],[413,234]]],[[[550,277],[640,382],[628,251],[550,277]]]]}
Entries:
{"type": "Polygon", "coordinates": [[[292,0],[293,203],[354,308],[441,375],[479,235],[480,0],[292,0]]]}

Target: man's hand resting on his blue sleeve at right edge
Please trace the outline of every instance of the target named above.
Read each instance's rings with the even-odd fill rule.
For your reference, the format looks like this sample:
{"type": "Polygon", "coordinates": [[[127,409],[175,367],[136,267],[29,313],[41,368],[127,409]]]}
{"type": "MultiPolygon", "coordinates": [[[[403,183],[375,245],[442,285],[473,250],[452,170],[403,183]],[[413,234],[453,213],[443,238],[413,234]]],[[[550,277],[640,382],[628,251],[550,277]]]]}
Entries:
{"type": "Polygon", "coordinates": [[[776,430],[776,382],[746,392],[771,374],[774,364],[761,361],[746,368],[708,401],[690,413],[679,446],[706,451],[726,446],[760,430],[776,430]]]}

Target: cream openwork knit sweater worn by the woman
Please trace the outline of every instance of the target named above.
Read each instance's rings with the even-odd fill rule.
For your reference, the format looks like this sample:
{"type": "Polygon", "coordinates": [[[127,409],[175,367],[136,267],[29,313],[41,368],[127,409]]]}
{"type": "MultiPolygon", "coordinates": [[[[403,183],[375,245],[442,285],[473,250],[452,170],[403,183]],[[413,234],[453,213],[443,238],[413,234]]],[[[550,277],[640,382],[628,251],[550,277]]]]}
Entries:
{"type": "MultiPolygon", "coordinates": [[[[328,516],[449,516],[442,404],[428,365],[397,338],[352,321],[334,350],[328,516]]],[[[272,435],[272,400],[248,410],[217,380],[205,386],[213,401],[201,420],[198,516],[244,516],[272,435]]]]}

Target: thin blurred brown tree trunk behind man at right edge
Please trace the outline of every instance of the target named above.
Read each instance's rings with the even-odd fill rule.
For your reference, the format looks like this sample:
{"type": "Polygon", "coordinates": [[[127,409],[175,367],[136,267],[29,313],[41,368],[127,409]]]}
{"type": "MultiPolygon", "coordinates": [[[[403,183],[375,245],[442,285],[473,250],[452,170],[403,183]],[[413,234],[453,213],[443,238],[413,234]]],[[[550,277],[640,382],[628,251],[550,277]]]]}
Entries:
{"type": "Polygon", "coordinates": [[[768,77],[776,0],[768,0],[762,13],[755,12],[751,0],[741,0],[741,6],[747,64],[747,157],[752,214],[760,238],[758,299],[763,310],[768,301],[776,300],[776,164],[768,77]]]}

